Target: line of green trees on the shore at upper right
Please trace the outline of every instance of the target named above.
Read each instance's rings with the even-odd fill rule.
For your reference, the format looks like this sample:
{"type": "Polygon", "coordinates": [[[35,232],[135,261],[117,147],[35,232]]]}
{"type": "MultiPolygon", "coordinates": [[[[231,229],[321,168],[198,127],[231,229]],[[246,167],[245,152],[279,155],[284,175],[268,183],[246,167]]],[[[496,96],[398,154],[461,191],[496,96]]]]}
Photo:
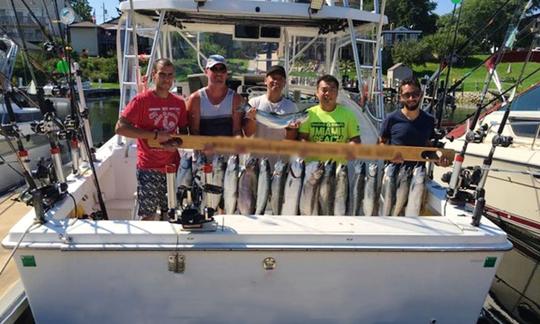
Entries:
{"type": "MultiPolygon", "coordinates": [[[[450,0],[445,0],[450,2],[450,0]]],[[[461,17],[459,5],[455,13],[438,16],[437,4],[430,0],[388,0],[388,20],[394,26],[421,30],[419,41],[404,41],[386,50],[391,61],[406,65],[439,61],[451,53],[452,40],[457,25],[456,49],[458,60],[472,54],[487,54],[499,47],[506,36],[508,26],[515,21],[525,7],[526,0],[462,0],[461,17]],[[502,8],[502,9],[500,9],[502,8]]],[[[540,0],[534,0],[529,13],[538,12],[540,0]]],[[[522,27],[525,24],[522,24],[522,27]]],[[[518,35],[516,47],[527,47],[532,33],[518,35]]]]}

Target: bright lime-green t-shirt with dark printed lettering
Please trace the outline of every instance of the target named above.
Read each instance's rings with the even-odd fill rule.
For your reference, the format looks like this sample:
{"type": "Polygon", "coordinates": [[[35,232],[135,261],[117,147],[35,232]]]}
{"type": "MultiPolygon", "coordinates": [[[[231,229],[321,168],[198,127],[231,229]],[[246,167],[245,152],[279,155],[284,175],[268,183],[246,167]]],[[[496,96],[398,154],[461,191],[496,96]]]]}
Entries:
{"type": "Polygon", "coordinates": [[[309,108],[308,119],[298,131],[308,134],[310,142],[348,143],[351,138],[360,136],[356,115],[342,105],[337,105],[332,112],[324,111],[320,105],[309,108]]]}

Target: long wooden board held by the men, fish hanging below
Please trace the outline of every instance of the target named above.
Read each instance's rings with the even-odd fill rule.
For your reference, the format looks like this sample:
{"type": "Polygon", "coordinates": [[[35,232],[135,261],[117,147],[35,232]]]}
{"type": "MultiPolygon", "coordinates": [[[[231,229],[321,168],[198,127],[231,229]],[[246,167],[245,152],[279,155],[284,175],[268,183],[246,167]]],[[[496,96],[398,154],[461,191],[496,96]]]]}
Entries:
{"type": "MultiPolygon", "coordinates": [[[[317,157],[325,160],[366,159],[404,161],[438,161],[441,157],[451,159],[454,151],[436,147],[413,147],[399,145],[313,143],[300,141],[276,141],[260,138],[241,138],[227,136],[185,136],[174,135],[176,139],[165,145],[194,150],[213,150],[217,153],[253,153],[299,155],[317,157]]],[[[148,140],[151,147],[162,147],[162,143],[148,140]]]]}

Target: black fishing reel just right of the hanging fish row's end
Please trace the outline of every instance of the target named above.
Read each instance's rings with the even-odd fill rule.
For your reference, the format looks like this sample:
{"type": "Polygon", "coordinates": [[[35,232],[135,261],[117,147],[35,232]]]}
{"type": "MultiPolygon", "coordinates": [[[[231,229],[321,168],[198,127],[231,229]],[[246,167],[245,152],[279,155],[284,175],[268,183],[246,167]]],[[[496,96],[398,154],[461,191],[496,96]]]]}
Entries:
{"type": "MultiPolygon", "coordinates": [[[[455,192],[448,191],[447,196],[450,201],[456,204],[473,202],[474,193],[482,177],[482,168],[479,166],[466,167],[461,169],[458,176],[458,182],[455,192]]],[[[450,183],[452,171],[444,173],[441,177],[442,182],[450,183]]]]}

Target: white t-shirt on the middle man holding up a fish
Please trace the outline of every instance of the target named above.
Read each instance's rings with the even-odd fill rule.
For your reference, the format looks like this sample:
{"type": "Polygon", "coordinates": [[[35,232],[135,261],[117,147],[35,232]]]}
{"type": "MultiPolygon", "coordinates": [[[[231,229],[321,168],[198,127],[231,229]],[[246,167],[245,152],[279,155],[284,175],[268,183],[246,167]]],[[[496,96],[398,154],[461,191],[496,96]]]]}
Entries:
{"type": "MultiPolygon", "coordinates": [[[[249,99],[249,104],[257,110],[274,112],[276,114],[290,114],[298,110],[296,104],[287,98],[281,98],[280,101],[273,103],[268,100],[266,94],[249,99]]],[[[257,122],[257,131],[255,137],[264,139],[281,140],[285,138],[285,129],[270,128],[257,122]]]]}

